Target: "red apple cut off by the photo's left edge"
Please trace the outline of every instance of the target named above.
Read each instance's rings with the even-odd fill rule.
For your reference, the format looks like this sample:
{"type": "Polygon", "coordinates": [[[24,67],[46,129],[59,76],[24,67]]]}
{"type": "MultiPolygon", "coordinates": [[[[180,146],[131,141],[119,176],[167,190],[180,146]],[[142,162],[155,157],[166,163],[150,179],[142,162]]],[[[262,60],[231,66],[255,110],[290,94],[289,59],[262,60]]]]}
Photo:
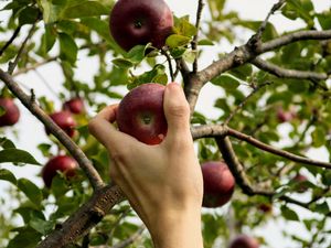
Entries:
{"type": "Polygon", "coordinates": [[[0,116],[0,127],[13,126],[20,119],[20,109],[11,98],[0,98],[0,106],[4,109],[4,114],[0,116]]]}

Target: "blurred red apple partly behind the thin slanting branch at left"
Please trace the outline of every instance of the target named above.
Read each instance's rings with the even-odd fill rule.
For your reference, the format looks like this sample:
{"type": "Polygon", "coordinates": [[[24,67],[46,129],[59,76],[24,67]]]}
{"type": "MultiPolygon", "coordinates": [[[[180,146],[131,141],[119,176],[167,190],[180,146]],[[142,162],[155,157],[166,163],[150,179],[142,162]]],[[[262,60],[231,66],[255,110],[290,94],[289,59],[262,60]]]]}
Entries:
{"type": "MultiPolygon", "coordinates": [[[[70,111],[58,111],[50,115],[52,120],[63,129],[70,137],[75,134],[76,121],[70,111]]],[[[46,130],[47,134],[50,132],[46,130]]]]}

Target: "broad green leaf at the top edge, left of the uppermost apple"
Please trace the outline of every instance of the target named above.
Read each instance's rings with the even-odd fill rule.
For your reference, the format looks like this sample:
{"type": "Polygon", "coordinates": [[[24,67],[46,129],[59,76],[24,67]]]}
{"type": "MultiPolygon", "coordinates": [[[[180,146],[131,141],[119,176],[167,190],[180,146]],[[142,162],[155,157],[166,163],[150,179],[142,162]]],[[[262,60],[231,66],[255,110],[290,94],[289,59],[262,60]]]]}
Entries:
{"type": "Polygon", "coordinates": [[[98,1],[85,1],[76,6],[71,6],[62,12],[64,19],[88,18],[109,14],[109,9],[98,1]]]}

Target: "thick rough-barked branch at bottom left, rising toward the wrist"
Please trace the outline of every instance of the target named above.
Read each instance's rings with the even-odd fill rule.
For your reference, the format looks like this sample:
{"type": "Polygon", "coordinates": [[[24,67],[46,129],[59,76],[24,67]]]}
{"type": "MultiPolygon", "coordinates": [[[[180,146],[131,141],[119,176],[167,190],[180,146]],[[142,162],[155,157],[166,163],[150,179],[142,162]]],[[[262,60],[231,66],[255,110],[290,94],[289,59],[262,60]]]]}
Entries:
{"type": "Polygon", "coordinates": [[[118,186],[105,186],[79,207],[58,229],[51,233],[36,248],[62,248],[86,235],[104,216],[124,200],[118,186]]]}

